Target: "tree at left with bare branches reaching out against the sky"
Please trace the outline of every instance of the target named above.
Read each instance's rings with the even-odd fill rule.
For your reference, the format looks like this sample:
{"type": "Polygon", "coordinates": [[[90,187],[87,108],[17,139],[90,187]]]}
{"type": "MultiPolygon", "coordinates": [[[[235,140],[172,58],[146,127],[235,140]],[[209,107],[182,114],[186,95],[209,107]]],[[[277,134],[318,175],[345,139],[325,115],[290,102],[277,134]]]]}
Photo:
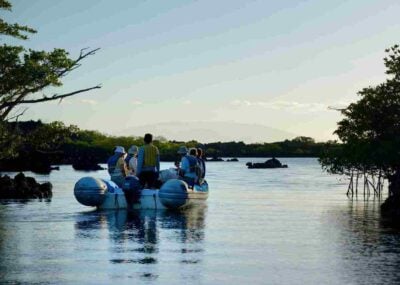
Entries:
{"type": "MultiPolygon", "coordinates": [[[[11,11],[7,0],[0,0],[0,11],[11,11]]],[[[22,104],[34,104],[52,100],[62,100],[79,93],[100,88],[100,85],[75,90],[65,94],[44,94],[48,87],[62,86],[62,79],[81,65],[83,59],[93,55],[98,49],[82,49],[77,58],[60,48],[52,51],[32,50],[22,45],[6,44],[11,37],[26,40],[36,30],[17,23],[7,23],[0,18],[0,158],[12,155],[12,146],[18,141],[4,125],[5,121],[17,119],[25,109],[22,104]]],[[[15,42],[15,41],[14,41],[15,42]]]]}

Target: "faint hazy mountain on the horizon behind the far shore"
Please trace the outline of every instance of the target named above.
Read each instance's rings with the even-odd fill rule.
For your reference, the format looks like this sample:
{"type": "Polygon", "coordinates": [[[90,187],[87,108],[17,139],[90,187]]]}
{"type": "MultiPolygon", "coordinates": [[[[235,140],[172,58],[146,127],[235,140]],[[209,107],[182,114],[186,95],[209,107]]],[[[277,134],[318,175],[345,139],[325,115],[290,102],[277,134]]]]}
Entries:
{"type": "Polygon", "coordinates": [[[163,136],[168,140],[189,141],[193,139],[203,143],[217,141],[276,142],[297,136],[263,125],[234,122],[168,122],[131,127],[116,135],[143,136],[145,133],[163,136]]]}

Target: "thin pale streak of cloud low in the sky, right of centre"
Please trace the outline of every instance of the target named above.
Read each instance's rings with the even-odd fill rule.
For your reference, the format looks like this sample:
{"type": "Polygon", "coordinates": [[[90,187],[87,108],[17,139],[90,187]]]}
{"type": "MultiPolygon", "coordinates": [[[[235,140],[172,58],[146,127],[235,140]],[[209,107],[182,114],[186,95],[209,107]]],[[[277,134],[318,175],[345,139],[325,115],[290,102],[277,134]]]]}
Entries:
{"type": "Polygon", "coordinates": [[[231,102],[233,106],[244,107],[262,107],[270,110],[289,110],[289,111],[309,111],[321,112],[326,111],[328,106],[321,103],[299,103],[295,101],[248,101],[248,100],[234,100],[231,102]]]}

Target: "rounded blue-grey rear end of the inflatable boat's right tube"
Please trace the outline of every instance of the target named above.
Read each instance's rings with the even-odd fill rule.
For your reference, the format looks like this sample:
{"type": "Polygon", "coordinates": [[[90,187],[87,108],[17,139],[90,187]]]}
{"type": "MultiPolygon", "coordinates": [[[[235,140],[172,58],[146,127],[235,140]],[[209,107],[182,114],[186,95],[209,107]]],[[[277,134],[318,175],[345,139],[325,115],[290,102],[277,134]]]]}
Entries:
{"type": "Polygon", "coordinates": [[[158,197],[161,203],[170,209],[183,206],[188,199],[188,184],[179,179],[170,179],[161,186],[158,197]]]}

